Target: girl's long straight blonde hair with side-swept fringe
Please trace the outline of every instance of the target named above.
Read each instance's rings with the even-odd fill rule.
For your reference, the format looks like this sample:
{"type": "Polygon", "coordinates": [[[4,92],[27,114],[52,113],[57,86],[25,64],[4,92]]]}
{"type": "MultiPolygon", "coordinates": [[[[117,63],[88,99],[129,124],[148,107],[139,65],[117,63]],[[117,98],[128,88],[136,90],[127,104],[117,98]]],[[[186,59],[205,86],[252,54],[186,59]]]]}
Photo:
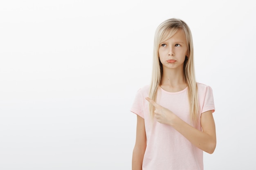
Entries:
{"type": "MultiPolygon", "coordinates": [[[[199,104],[197,84],[195,80],[194,57],[193,57],[193,40],[189,26],[182,20],[171,18],[162,22],[155,31],[153,47],[153,70],[150,84],[149,97],[156,101],[157,89],[160,86],[163,74],[162,63],[159,60],[158,49],[161,42],[171,38],[178,30],[183,30],[186,35],[186,42],[189,50],[189,56],[186,57],[183,66],[184,80],[188,86],[188,97],[190,106],[190,117],[195,123],[199,118],[199,104]]],[[[150,104],[150,116],[153,121],[155,107],[150,104]]]]}

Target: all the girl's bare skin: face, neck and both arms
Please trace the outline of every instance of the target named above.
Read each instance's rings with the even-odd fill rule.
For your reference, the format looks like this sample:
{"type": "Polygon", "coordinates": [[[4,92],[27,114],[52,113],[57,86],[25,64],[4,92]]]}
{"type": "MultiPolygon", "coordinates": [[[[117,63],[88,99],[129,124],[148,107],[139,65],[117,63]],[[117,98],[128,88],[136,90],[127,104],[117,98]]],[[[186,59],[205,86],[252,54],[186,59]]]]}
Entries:
{"type": "MultiPolygon", "coordinates": [[[[169,92],[178,92],[186,88],[183,77],[183,64],[188,56],[186,37],[182,30],[175,33],[170,39],[161,42],[159,46],[159,59],[163,65],[161,88],[169,92]]],[[[202,131],[187,124],[175,113],[146,97],[146,100],[155,106],[154,116],[161,124],[172,126],[180,132],[193,145],[201,150],[213,153],[216,148],[216,128],[212,111],[201,114],[200,123],[202,131]]],[[[144,119],[137,116],[137,134],[132,154],[132,170],[142,170],[142,161],[146,150],[146,131],[144,119]]]]}

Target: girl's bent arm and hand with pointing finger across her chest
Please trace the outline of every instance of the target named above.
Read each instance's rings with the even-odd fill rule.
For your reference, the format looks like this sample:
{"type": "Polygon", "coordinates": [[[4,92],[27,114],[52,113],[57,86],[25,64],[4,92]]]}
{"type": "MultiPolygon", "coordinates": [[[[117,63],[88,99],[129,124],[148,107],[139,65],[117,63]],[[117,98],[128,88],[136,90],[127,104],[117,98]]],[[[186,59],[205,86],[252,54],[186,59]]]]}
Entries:
{"type": "Polygon", "coordinates": [[[146,99],[155,106],[155,118],[159,123],[172,126],[201,150],[210,154],[214,152],[216,148],[216,129],[211,110],[201,114],[201,131],[187,124],[171,110],[160,106],[148,97],[146,99]]]}

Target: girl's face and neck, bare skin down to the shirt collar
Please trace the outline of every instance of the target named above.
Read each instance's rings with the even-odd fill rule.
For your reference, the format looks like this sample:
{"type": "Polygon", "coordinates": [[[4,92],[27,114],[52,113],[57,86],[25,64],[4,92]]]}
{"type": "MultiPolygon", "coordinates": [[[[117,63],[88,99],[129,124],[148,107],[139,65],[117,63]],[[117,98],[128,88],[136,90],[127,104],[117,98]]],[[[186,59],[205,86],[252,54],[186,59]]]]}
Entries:
{"type": "Polygon", "coordinates": [[[186,55],[188,56],[184,32],[179,30],[171,38],[161,42],[158,54],[163,65],[161,87],[169,92],[182,91],[187,86],[183,78],[183,64],[186,55]]]}

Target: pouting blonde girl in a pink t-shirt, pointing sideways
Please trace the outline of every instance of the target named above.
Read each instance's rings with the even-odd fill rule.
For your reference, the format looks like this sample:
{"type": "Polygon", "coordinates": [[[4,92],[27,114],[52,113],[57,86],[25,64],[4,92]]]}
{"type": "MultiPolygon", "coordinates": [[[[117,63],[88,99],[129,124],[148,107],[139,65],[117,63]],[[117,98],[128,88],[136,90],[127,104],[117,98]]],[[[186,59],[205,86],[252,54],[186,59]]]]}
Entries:
{"type": "Polygon", "coordinates": [[[216,130],[210,86],[195,81],[188,25],[169,19],[157,27],[151,84],[137,91],[132,170],[203,170],[203,151],[213,153],[216,130]]]}

